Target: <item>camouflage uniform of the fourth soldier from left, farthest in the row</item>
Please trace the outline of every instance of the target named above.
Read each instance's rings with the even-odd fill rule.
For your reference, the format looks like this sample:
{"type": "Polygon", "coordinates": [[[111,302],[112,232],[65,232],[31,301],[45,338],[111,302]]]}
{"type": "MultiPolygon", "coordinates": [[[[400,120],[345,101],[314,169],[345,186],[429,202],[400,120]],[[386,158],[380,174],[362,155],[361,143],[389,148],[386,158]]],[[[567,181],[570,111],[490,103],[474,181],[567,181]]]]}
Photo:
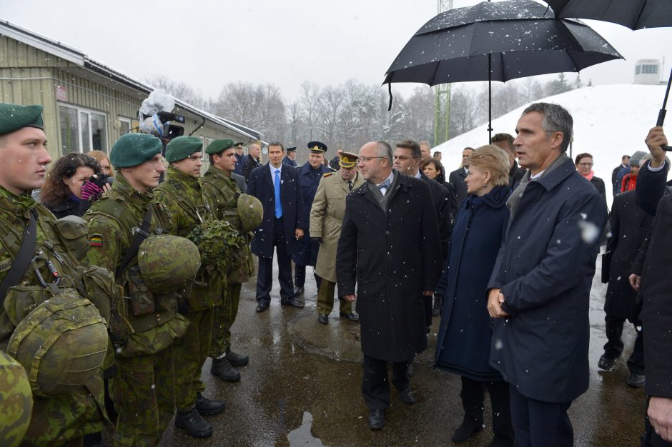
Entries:
{"type": "MultiPolygon", "coordinates": [[[[209,203],[217,207],[217,219],[232,224],[241,231],[240,220],[236,211],[240,189],[236,181],[225,171],[212,165],[201,179],[203,194],[209,203]]],[[[212,341],[210,343],[210,357],[222,356],[231,348],[231,326],[238,313],[240,290],[242,283],[249,280],[255,265],[249,245],[245,246],[240,256],[240,263],[229,267],[227,271],[224,301],[214,308],[212,322],[212,341]]]]}

